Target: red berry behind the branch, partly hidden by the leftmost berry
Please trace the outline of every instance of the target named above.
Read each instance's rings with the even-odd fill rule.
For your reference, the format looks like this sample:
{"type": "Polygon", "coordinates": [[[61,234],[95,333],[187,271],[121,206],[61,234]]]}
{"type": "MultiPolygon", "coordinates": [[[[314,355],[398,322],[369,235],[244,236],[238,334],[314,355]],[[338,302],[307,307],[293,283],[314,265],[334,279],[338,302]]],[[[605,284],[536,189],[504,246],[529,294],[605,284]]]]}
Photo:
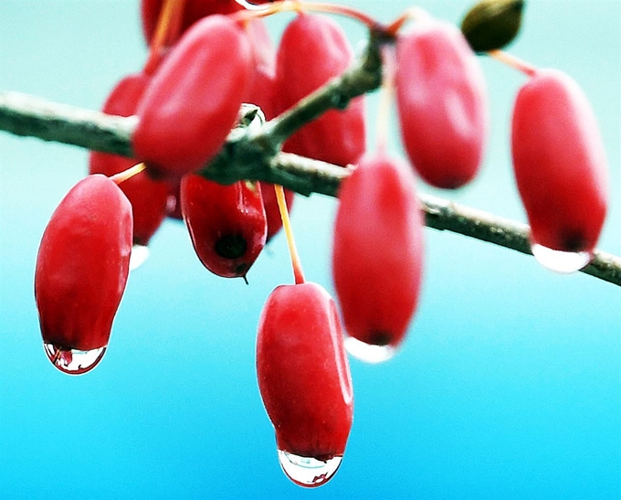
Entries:
{"type": "MultiPolygon", "coordinates": [[[[103,105],[103,112],[118,116],[131,116],[150,78],[144,73],[128,75],[111,91],[103,105]]],[[[89,156],[89,174],[113,176],[135,165],[136,160],[117,154],[93,151],[89,156]]],[[[123,181],[121,191],[132,203],[133,242],[146,246],[162,224],[171,186],[155,181],[146,172],[123,181]]]]}

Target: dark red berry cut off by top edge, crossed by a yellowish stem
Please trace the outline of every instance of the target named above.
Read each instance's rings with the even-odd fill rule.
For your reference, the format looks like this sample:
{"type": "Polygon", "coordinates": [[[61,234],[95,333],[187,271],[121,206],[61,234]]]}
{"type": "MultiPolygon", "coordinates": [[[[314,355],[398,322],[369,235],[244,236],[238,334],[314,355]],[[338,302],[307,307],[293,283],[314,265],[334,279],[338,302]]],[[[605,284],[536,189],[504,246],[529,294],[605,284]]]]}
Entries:
{"type": "MultiPolygon", "coordinates": [[[[165,0],[142,0],[141,17],[142,32],[147,43],[151,45],[153,35],[157,28],[162,6],[165,0]]],[[[184,13],[181,18],[181,26],[177,37],[168,40],[173,45],[178,37],[191,27],[196,21],[214,14],[231,14],[243,9],[235,0],[184,0],[184,13]]]]}

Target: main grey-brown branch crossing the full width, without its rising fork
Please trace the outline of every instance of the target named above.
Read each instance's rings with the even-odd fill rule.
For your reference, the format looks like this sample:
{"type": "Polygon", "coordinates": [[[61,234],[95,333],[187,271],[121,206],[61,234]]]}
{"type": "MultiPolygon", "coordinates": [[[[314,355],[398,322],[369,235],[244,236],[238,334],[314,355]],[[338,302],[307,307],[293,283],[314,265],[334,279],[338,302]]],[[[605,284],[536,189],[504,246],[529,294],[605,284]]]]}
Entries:
{"type": "MultiPolygon", "coordinates": [[[[242,114],[252,118],[256,110],[246,107],[242,114]]],[[[136,123],[136,117],[121,118],[26,94],[0,92],[0,130],[16,135],[132,157],[131,137],[136,123]]],[[[202,175],[225,183],[239,179],[263,180],[306,196],[321,193],[335,197],[342,180],[351,173],[348,168],[296,154],[277,153],[266,158],[260,146],[261,137],[261,133],[253,133],[252,126],[235,129],[202,175]]],[[[429,228],[532,254],[526,224],[438,197],[420,195],[420,198],[429,228]]],[[[615,255],[595,250],[593,261],[582,271],[621,286],[621,258],[615,255]]]]}

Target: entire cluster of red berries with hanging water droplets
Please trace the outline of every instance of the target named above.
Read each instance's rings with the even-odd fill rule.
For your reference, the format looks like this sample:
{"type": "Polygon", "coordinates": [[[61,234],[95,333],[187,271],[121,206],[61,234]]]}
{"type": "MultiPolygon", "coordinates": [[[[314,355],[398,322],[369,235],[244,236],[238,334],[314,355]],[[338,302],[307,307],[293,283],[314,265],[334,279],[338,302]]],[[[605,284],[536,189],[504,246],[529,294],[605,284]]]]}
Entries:
{"type": "MultiPolygon", "coordinates": [[[[58,206],[38,254],[41,331],[59,369],[83,373],[99,362],[132,252],[148,244],[163,218],[183,217],[200,261],[225,277],[245,277],[283,223],[289,231],[292,193],[249,181],[222,186],[196,174],[225,143],[243,102],[258,104],[269,120],[351,64],[342,28],[301,3],[293,4],[298,15],[273,48],[260,16],[282,5],[292,3],[240,16],[244,7],[233,0],[142,1],[150,58],[142,72],[121,80],[103,109],[138,116],[132,146],[144,169],[131,159],[91,154],[90,175],[58,206]]],[[[416,312],[424,254],[416,176],[432,186],[464,186],[483,156],[488,101],[468,39],[420,14],[402,29],[406,19],[384,27],[382,43],[384,89],[395,90],[409,163],[382,144],[365,153],[363,97],[282,145],[355,165],[342,182],[334,224],[338,307],[321,285],[304,281],[293,259],[296,283],[269,295],[258,324],[258,386],[279,461],[305,486],[328,481],[345,450],[353,419],[345,347],[367,361],[387,359],[416,312]]],[[[533,252],[542,260],[588,261],[606,207],[595,118],[563,73],[519,69],[529,80],[515,103],[511,139],[533,252]]]]}

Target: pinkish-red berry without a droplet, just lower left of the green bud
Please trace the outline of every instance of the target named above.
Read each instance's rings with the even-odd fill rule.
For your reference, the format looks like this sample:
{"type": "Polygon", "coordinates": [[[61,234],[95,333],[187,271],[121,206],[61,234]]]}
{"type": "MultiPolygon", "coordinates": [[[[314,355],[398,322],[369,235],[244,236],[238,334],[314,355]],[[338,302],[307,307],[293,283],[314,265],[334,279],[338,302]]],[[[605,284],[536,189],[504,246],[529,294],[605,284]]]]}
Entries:
{"type": "Polygon", "coordinates": [[[476,176],[488,128],[485,80],[457,27],[424,20],[396,42],[396,101],[405,151],[432,186],[476,176]]]}

